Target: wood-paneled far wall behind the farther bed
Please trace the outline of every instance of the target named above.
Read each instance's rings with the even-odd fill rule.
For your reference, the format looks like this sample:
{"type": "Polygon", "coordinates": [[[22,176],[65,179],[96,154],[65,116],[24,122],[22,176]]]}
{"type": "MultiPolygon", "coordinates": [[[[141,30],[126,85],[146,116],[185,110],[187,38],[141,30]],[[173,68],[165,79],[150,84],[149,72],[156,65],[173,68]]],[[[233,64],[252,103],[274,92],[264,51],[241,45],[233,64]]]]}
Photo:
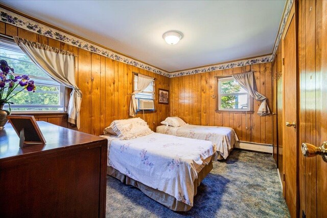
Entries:
{"type": "MultiPolygon", "coordinates": [[[[215,77],[254,71],[258,91],[268,99],[271,109],[271,63],[253,64],[232,69],[203,72],[170,79],[170,115],[186,123],[204,126],[225,126],[235,129],[242,141],[272,144],[272,114],[259,116],[260,102],[253,100],[253,113],[216,112],[215,77]],[[246,128],[246,124],[247,127],[246,128]]],[[[218,98],[218,97],[217,97],[218,98]]]]}

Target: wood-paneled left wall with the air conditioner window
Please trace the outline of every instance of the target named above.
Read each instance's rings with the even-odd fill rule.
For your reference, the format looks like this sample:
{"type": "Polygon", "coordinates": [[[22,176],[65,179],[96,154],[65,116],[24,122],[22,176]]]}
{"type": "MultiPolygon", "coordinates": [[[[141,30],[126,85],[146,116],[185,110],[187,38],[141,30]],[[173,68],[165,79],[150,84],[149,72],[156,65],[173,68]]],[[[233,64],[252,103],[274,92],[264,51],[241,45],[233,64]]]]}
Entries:
{"type": "MultiPolygon", "coordinates": [[[[169,90],[169,78],[154,74],[154,72],[118,62],[4,22],[0,22],[0,33],[58,47],[77,55],[75,79],[83,92],[80,112],[80,131],[82,132],[100,135],[112,120],[129,118],[128,109],[130,93],[133,91],[133,72],[156,78],[156,97],[159,88],[169,90]]],[[[169,105],[158,104],[158,98],[156,98],[155,109],[156,112],[144,115],[146,122],[154,131],[156,126],[169,115],[169,105]]],[[[143,114],[137,116],[143,118],[143,114]]],[[[46,119],[45,121],[49,123],[71,127],[62,117],[42,115],[40,120],[46,119]]]]}

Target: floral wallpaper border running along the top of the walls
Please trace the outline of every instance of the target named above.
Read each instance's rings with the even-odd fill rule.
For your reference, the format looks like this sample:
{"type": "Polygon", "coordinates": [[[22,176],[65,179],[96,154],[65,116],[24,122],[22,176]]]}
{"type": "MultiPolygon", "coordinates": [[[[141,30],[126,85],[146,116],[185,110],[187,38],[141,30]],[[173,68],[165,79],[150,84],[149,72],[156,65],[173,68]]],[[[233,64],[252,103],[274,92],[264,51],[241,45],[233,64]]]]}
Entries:
{"type": "Polygon", "coordinates": [[[22,28],[25,30],[29,30],[31,32],[35,32],[37,34],[56,39],[58,41],[65,42],[67,44],[79,47],[79,48],[87,50],[89,52],[97,53],[99,55],[105,56],[107,58],[110,58],[110,59],[113,59],[116,61],[120,61],[120,62],[123,62],[126,64],[130,64],[132,66],[136,66],[136,67],[139,67],[142,69],[152,71],[155,74],[159,74],[159,75],[162,75],[165,77],[172,78],[172,77],[181,77],[181,76],[192,75],[192,74],[199,74],[201,72],[209,72],[209,71],[220,70],[220,69],[229,69],[229,68],[234,68],[234,67],[246,66],[246,65],[256,64],[256,63],[271,62],[273,60],[273,57],[277,50],[278,43],[282,37],[282,33],[285,28],[285,23],[286,23],[288,15],[289,15],[292,3],[293,3],[293,0],[289,0],[287,3],[287,9],[284,14],[283,23],[281,25],[281,28],[279,29],[278,37],[276,40],[276,44],[274,45],[274,50],[273,50],[272,55],[256,57],[256,58],[251,58],[251,59],[245,59],[245,60],[240,60],[240,61],[231,61],[228,63],[211,65],[211,66],[206,66],[206,67],[199,67],[199,68],[190,69],[190,70],[181,70],[181,71],[177,71],[177,72],[173,72],[173,73],[169,73],[167,71],[160,70],[156,67],[136,61],[136,60],[134,60],[132,58],[128,58],[124,55],[114,53],[110,50],[104,49],[101,46],[87,42],[83,39],[69,35],[67,33],[56,30],[54,28],[42,25],[42,23],[31,20],[29,18],[26,18],[24,16],[16,14],[12,11],[6,10],[4,8],[0,7],[0,12],[1,12],[1,21],[9,23],[11,25],[14,25],[16,27],[19,27],[19,28],[22,28]]]}

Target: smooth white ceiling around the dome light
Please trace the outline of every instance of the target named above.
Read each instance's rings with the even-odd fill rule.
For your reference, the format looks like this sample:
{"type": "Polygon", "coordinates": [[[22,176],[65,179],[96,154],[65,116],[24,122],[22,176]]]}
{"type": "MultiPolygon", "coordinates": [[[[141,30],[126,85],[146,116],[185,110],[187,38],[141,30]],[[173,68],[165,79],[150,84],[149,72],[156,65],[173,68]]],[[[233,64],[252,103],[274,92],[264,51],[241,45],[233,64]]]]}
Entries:
{"type": "Polygon", "coordinates": [[[166,71],[272,53],[285,0],[7,1],[2,4],[166,71]],[[184,38],[162,39],[168,30],[184,38]]]}

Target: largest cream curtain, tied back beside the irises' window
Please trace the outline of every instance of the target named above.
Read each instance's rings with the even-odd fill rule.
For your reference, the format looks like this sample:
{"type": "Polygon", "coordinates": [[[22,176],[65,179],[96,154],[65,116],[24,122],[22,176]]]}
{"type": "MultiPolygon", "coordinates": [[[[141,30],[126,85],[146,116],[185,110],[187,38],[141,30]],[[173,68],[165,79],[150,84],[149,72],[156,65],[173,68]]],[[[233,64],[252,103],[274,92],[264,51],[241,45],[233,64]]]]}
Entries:
{"type": "Polygon", "coordinates": [[[60,84],[73,89],[68,103],[68,122],[75,124],[79,129],[82,92],[75,82],[74,54],[19,37],[14,37],[14,40],[45,74],[60,84]]]}

